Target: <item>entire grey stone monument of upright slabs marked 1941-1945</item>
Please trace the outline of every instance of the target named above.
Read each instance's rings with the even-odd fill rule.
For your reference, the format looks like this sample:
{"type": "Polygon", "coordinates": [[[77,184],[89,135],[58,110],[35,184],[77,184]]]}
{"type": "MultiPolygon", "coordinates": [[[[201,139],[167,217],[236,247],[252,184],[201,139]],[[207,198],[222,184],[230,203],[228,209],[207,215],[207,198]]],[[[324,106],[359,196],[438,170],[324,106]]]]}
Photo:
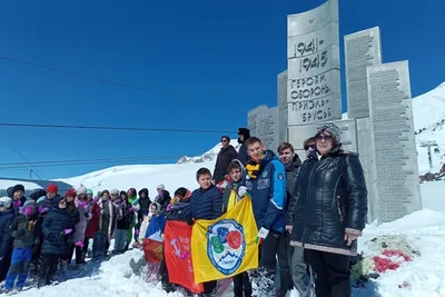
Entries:
{"type": "Polygon", "coordinates": [[[382,65],[378,27],[345,36],[348,117],[342,119],[338,0],[287,21],[288,69],[277,77],[278,106],[249,111],[251,135],[274,151],[289,141],[305,156],[303,141],[315,135],[316,125],[334,121],[344,149],[359,154],[367,221],[392,221],[422,209],[407,62],[382,65]]]}

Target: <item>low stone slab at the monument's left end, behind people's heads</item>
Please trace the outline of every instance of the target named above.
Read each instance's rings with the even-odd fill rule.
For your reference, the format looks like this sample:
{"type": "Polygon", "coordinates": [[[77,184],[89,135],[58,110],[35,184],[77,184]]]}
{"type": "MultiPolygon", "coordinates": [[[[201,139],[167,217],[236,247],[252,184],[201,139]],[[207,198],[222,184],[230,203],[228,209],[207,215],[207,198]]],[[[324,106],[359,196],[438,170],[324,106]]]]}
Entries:
{"type": "Polygon", "coordinates": [[[248,112],[248,128],[250,135],[256,136],[274,151],[277,150],[278,142],[278,107],[268,108],[261,105],[248,112]]]}

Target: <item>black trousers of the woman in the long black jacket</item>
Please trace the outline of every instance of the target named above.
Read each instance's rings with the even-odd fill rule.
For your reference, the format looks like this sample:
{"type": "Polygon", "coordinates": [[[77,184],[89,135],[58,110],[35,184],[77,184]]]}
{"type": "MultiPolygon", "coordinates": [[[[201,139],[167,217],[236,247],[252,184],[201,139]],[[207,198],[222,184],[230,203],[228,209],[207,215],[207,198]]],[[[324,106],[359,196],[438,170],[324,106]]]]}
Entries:
{"type": "Polygon", "coordinates": [[[317,297],[350,297],[349,256],[305,249],[305,259],[315,276],[317,297]]]}

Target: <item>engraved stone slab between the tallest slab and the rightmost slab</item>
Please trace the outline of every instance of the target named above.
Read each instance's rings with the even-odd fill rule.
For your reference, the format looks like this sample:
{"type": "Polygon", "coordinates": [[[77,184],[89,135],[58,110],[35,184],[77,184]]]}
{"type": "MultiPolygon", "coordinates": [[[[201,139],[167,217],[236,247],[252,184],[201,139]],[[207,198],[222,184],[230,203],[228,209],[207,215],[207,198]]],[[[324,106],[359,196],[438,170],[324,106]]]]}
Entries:
{"type": "Polygon", "coordinates": [[[345,36],[345,72],[348,118],[368,118],[366,68],[382,63],[378,27],[345,36]]]}

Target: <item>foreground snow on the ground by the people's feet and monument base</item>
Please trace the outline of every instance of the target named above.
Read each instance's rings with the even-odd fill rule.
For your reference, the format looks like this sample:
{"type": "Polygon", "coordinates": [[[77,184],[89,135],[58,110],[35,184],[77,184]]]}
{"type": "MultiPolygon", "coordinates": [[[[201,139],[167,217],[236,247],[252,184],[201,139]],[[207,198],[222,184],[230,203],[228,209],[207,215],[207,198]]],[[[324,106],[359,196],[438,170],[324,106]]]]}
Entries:
{"type": "MultiPolygon", "coordinates": [[[[436,181],[422,185],[423,194],[428,192],[434,197],[425,205],[434,209],[445,210],[445,198],[441,197],[445,181],[436,181]],[[425,186],[434,185],[434,187],[425,186]],[[436,191],[437,190],[437,191],[436,191]],[[435,201],[435,202],[433,202],[435,201]]],[[[376,237],[383,235],[402,235],[406,237],[413,248],[422,256],[413,261],[402,265],[397,270],[380,275],[377,280],[370,280],[365,288],[354,289],[355,297],[436,297],[445,296],[445,212],[424,209],[405,218],[380,226],[366,227],[363,238],[359,240],[359,250],[369,253],[369,244],[376,237]],[[403,283],[409,284],[409,288],[399,288],[403,283]]],[[[144,280],[146,273],[142,251],[131,250],[120,256],[112,257],[99,267],[89,266],[82,271],[72,273],[71,278],[58,286],[41,289],[30,288],[20,293],[23,297],[77,297],[77,296],[122,296],[122,297],[160,297],[182,296],[180,294],[167,294],[160,289],[158,283],[144,280]]],[[[222,297],[233,296],[226,291],[222,297]]],[[[290,297],[298,297],[294,291],[290,297]]]]}

